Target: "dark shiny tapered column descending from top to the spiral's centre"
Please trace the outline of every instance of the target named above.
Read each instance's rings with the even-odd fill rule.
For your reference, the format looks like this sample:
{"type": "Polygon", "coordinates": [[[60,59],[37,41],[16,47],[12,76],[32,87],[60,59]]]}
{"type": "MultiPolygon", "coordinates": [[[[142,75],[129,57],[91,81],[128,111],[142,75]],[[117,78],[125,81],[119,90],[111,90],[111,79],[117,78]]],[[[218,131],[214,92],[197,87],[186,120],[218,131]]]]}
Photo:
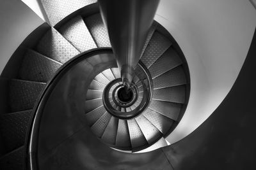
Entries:
{"type": "Polygon", "coordinates": [[[123,83],[129,87],[159,0],[99,0],[98,2],[123,83]]]}

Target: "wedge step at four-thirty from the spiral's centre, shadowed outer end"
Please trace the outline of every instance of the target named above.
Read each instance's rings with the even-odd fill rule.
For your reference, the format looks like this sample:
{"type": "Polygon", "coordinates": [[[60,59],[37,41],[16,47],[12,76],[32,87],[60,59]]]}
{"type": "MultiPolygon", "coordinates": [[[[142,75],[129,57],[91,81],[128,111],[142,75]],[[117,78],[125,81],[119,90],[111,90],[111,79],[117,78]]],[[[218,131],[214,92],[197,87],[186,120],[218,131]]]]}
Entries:
{"type": "Polygon", "coordinates": [[[164,117],[150,108],[143,112],[143,116],[146,117],[160,132],[162,132],[162,134],[166,134],[173,124],[172,119],[164,117]]]}

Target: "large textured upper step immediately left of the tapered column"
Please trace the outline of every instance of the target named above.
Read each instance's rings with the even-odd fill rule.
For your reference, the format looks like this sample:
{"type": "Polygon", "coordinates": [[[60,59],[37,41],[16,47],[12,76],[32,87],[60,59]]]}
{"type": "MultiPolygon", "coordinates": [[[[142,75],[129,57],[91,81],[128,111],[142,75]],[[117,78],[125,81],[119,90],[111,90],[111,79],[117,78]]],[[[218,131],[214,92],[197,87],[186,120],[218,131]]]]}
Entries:
{"type": "Polygon", "coordinates": [[[84,22],[98,47],[111,47],[108,31],[100,17],[100,13],[84,18],[84,22]]]}

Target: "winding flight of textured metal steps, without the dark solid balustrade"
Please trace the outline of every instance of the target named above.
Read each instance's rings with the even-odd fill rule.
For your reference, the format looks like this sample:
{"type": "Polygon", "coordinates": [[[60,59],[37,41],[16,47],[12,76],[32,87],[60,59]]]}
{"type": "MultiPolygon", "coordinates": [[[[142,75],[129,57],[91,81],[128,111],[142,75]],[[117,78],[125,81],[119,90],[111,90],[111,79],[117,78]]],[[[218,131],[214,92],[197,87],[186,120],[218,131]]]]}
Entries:
{"type": "MultiPolygon", "coordinates": [[[[61,4],[59,1],[56,3],[61,4]]],[[[42,1],[42,4],[52,25],[66,17],[63,14],[64,17],[60,15],[61,18],[56,18],[56,4],[49,4],[49,1],[42,1]]],[[[90,3],[84,5],[87,4],[90,3]]],[[[33,108],[56,71],[65,67],[65,62],[79,53],[111,47],[99,13],[72,15],[71,18],[66,17],[65,21],[58,27],[51,27],[33,48],[26,50],[17,76],[1,80],[8,85],[6,101],[9,111],[0,116],[4,146],[0,169],[25,168],[24,144],[31,115],[35,113],[33,108]]],[[[141,74],[134,76],[132,97],[120,97],[122,83],[116,67],[102,70],[86,89],[86,122],[95,136],[112,148],[131,152],[148,148],[168,136],[184,114],[189,96],[188,66],[166,32],[156,22],[152,25],[140,59],[148,79],[141,74]],[[146,94],[148,84],[152,91],[146,94]],[[106,104],[108,102],[104,103],[104,96],[108,96],[106,100],[111,106],[106,104]]]]}

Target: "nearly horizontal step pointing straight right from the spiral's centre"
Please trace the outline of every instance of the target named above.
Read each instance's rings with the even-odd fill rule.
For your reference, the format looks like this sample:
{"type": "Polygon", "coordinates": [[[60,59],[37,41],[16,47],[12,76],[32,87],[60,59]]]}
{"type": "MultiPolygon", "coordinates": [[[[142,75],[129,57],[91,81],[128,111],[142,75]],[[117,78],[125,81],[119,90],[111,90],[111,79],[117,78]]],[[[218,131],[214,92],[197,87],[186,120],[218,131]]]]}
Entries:
{"type": "Polygon", "coordinates": [[[169,101],[173,103],[184,103],[186,97],[186,85],[155,89],[152,99],[169,101]]]}

